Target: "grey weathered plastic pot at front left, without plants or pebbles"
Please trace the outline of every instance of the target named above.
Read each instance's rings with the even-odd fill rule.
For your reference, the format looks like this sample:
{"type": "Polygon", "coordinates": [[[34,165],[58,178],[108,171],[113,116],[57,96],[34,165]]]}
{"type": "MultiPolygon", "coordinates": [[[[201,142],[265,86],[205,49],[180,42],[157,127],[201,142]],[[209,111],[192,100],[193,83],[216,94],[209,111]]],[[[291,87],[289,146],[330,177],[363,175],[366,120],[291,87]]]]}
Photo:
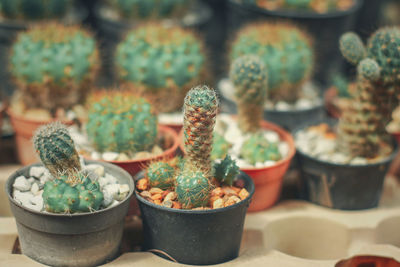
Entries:
{"type": "Polygon", "coordinates": [[[117,166],[95,161],[87,163],[101,164],[120,183],[129,184],[128,197],[114,207],[95,212],[43,213],[21,206],[12,197],[14,180],[28,175],[30,167],[40,164],[23,167],[8,178],[6,193],[23,254],[51,266],[94,266],[117,256],[134,183],[130,175],[117,166]]]}

